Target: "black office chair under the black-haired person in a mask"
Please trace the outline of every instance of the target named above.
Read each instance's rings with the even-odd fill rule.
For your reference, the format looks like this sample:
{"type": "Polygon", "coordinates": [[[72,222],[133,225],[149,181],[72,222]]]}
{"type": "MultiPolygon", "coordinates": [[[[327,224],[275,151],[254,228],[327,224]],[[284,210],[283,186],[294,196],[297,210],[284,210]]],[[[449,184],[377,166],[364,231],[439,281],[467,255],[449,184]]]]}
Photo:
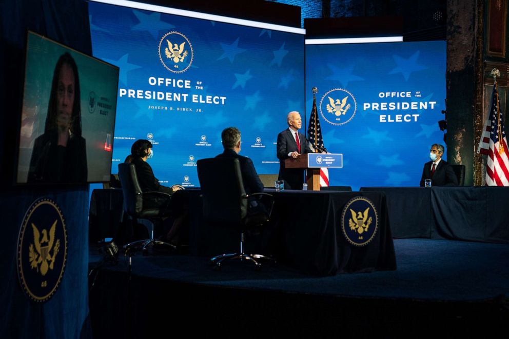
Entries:
{"type": "Polygon", "coordinates": [[[147,219],[152,225],[149,230],[149,239],[124,245],[124,252],[141,248],[146,253],[150,245],[162,245],[175,249],[175,246],[170,243],[154,239],[155,225],[162,224],[163,217],[168,216],[165,212],[168,209],[171,196],[162,192],[142,192],[134,164],[119,164],[119,178],[124,195],[125,213],[133,219],[134,225],[137,224],[138,219],[147,219]],[[149,203],[147,203],[148,201],[149,203]]]}

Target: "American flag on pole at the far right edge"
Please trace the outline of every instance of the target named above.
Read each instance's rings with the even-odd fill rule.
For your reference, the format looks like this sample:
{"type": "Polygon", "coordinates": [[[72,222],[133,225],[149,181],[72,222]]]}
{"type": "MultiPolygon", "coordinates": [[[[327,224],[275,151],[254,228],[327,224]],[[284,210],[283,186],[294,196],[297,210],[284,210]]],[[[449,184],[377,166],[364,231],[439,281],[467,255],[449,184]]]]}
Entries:
{"type": "Polygon", "coordinates": [[[478,153],[487,155],[486,186],[509,186],[509,158],[503,113],[500,110],[497,82],[493,86],[490,116],[484,123],[478,153]]]}

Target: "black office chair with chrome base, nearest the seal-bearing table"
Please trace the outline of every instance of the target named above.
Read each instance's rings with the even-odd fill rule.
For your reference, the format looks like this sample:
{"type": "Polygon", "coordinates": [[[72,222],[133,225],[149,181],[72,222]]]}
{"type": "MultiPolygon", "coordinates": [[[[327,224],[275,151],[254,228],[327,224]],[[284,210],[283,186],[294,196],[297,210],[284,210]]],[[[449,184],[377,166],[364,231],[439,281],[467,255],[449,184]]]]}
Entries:
{"type": "Polygon", "coordinates": [[[273,261],[261,254],[244,253],[244,232],[268,222],[274,203],[272,195],[246,194],[239,159],[201,159],[197,162],[197,169],[202,189],[204,220],[240,231],[240,251],[212,257],[210,261],[215,264],[214,269],[221,269],[221,264],[226,259],[251,262],[256,265],[256,269],[261,267],[258,259],[273,261]],[[218,180],[219,177],[222,180],[218,180]]]}

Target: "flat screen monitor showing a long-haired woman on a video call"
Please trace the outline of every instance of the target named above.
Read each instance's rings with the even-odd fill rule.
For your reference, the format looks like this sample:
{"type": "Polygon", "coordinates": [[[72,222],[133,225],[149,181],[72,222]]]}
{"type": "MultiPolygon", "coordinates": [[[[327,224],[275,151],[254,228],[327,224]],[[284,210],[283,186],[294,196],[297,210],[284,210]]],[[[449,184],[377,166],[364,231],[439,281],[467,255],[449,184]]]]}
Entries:
{"type": "Polygon", "coordinates": [[[28,31],[16,182],[108,182],[119,68],[28,31]]]}

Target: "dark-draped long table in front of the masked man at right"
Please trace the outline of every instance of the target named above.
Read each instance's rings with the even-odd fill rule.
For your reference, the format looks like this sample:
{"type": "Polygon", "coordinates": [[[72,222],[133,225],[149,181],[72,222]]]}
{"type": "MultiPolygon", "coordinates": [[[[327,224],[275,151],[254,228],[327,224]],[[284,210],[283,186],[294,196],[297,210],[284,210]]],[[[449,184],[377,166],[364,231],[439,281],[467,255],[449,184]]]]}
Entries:
{"type": "Polygon", "coordinates": [[[509,187],[363,187],[383,192],[395,238],[509,243],[509,187]]]}

